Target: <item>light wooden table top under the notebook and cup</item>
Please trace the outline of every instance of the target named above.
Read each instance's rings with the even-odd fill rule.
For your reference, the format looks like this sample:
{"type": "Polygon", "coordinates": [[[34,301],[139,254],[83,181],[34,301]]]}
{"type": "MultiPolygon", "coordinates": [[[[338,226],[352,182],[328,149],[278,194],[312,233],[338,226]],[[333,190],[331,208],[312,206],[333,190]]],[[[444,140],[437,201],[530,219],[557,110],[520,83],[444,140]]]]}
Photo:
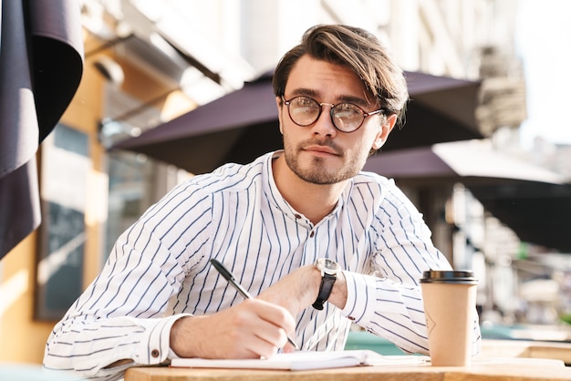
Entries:
{"type": "Polygon", "coordinates": [[[309,371],[133,367],[125,381],[559,381],[571,367],[546,359],[475,359],[469,367],[356,366],[309,371]]]}

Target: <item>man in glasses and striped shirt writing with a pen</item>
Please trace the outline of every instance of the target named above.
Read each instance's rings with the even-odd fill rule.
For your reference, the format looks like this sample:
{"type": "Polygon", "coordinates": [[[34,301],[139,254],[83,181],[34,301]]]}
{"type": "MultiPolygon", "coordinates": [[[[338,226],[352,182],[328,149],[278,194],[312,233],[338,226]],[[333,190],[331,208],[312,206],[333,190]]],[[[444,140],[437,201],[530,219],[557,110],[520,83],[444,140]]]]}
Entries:
{"type": "Polygon", "coordinates": [[[56,325],[45,366],[120,377],[176,355],[290,352],[288,335],[341,350],[351,323],[428,353],[419,280],[450,264],[394,182],[361,172],[405,107],[402,70],[368,32],[316,26],[274,90],[284,150],[196,176],[146,211],[56,325]]]}

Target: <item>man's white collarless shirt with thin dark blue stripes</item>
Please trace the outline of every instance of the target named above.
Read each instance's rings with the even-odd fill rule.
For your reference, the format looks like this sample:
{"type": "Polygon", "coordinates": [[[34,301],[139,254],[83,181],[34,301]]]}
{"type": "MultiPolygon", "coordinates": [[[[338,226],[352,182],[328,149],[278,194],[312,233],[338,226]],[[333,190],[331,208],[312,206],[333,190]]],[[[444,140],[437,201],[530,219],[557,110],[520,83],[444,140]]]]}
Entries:
{"type": "MultiPolygon", "coordinates": [[[[119,379],[125,367],[168,360],[171,324],[243,301],[213,269],[216,258],[256,295],[297,267],[327,257],[344,269],[344,309],[309,306],[296,316],[303,350],[343,349],[351,323],[406,352],[428,354],[419,279],[451,266],[431,243],[419,211],[388,180],[361,172],[317,224],[275,186],[268,153],[193,177],[151,206],[124,232],[97,279],[47,341],[47,368],[119,379]]],[[[303,196],[302,196],[303,197],[303,196]]],[[[477,322],[474,351],[479,348],[477,322]]]]}

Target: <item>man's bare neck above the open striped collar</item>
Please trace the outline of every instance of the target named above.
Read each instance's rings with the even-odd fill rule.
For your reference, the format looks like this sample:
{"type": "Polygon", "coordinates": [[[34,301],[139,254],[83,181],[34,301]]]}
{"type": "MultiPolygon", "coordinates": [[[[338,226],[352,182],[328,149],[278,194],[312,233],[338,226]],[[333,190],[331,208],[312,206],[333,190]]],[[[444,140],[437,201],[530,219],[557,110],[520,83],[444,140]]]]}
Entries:
{"type": "Polygon", "coordinates": [[[289,169],[284,155],[274,160],[272,169],[275,185],[285,201],[314,225],[333,211],[347,184],[320,185],[301,180],[289,169]]]}

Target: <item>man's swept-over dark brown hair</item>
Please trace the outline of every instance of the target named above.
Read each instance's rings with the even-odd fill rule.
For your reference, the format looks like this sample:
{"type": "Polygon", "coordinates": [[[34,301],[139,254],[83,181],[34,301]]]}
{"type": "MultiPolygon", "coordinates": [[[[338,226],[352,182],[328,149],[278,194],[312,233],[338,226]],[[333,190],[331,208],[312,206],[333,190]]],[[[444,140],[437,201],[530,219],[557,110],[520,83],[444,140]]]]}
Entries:
{"type": "Polygon", "coordinates": [[[310,57],[349,67],[388,114],[399,115],[399,124],[409,99],[402,69],[389,57],[376,36],[368,31],[342,25],[318,25],[307,29],[301,44],[279,61],[274,72],[276,97],[285,93],[287,78],[300,57],[310,57]]]}

